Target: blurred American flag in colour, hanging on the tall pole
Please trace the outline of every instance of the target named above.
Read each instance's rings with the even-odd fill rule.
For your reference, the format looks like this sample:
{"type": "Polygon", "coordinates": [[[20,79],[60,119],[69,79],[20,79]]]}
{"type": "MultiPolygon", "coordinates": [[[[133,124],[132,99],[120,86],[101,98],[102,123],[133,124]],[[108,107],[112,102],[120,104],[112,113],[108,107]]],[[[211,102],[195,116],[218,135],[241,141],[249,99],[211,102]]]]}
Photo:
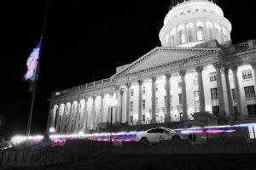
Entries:
{"type": "Polygon", "coordinates": [[[39,51],[40,51],[40,44],[39,41],[37,46],[33,48],[32,53],[29,55],[28,59],[26,60],[26,80],[34,81],[36,77],[36,71],[38,66],[38,57],[39,57],[39,51]]]}

